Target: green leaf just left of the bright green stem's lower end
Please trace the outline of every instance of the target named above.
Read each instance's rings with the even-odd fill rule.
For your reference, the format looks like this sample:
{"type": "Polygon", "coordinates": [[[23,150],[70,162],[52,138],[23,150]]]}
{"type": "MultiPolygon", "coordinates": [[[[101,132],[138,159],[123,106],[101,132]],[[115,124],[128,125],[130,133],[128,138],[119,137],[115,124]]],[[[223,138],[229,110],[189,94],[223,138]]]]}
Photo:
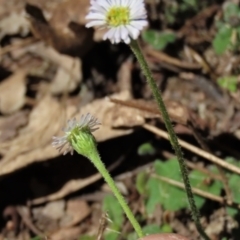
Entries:
{"type": "Polygon", "coordinates": [[[124,213],[122,207],[113,195],[105,196],[103,199],[103,209],[108,212],[108,215],[112,220],[110,228],[119,231],[124,221],[124,213]]]}

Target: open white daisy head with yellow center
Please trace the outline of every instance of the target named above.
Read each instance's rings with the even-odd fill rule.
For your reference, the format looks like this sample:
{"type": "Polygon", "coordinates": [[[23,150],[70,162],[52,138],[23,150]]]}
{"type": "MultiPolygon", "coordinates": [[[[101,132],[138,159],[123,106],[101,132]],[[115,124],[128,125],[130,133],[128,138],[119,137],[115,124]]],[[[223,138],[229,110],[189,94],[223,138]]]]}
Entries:
{"type": "Polygon", "coordinates": [[[144,0],[91,0],[86,27],[107,27],[103,39],[129,44],[147,26],[144,0]]]}

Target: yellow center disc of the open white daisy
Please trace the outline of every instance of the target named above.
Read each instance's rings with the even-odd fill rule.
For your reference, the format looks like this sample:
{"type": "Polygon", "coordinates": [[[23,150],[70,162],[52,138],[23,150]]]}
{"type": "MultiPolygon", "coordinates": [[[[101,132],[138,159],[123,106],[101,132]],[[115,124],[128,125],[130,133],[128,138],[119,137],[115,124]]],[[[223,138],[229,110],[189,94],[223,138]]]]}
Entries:
{"type": "Polygon", "coordinates": [[[130,22],[130,11],[128,7],[113,7],[109,9],[106,21],[111,27],[127,25],[130,22]]]}

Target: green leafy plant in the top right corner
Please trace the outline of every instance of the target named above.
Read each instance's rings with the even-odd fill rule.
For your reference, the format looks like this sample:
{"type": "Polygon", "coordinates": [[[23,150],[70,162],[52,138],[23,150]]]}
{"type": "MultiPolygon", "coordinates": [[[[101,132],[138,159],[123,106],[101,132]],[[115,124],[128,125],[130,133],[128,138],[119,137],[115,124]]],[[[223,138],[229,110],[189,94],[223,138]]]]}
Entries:
{"type": "Polygon", "coordinates": [[[213,40],[213,48],[217,54],[223,54],[227,49],[235,51],[240,39],[240,8],[229,3],[223,12],[223,19],[216,22],[217,34],[213,40]]]}

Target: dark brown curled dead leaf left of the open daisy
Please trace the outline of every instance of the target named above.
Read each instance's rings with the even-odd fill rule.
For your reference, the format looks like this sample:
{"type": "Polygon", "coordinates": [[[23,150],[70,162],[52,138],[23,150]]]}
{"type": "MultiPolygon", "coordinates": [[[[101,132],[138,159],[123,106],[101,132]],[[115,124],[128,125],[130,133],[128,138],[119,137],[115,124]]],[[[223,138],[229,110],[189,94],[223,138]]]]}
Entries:
{"type": "MultiPolygon", "coordinates": [[[[81,1],[78,1],[81,3],[81,1]]],[[[71,5],[72,7],[72,5],[71,5]]],[[[74,9],[79,11],[75,5],[74,9]]],[[[62,8],[68,13],[67,8],[62,8]]],[[[55,21],[48,22],[42,10],[34,5],[27,4],[26,11],[30,15],[31,30],[35,37],[54,47],[57,51],[72,56],[83,56],[93,45],[93,29],[86,28],[75,22],[72,16],[63,18],[64,26],[55,21]],[[53,25],[55,23],[55,25],[53,25]]],[[[62,21],[61,21],[62,23],[62,21]]]]}

